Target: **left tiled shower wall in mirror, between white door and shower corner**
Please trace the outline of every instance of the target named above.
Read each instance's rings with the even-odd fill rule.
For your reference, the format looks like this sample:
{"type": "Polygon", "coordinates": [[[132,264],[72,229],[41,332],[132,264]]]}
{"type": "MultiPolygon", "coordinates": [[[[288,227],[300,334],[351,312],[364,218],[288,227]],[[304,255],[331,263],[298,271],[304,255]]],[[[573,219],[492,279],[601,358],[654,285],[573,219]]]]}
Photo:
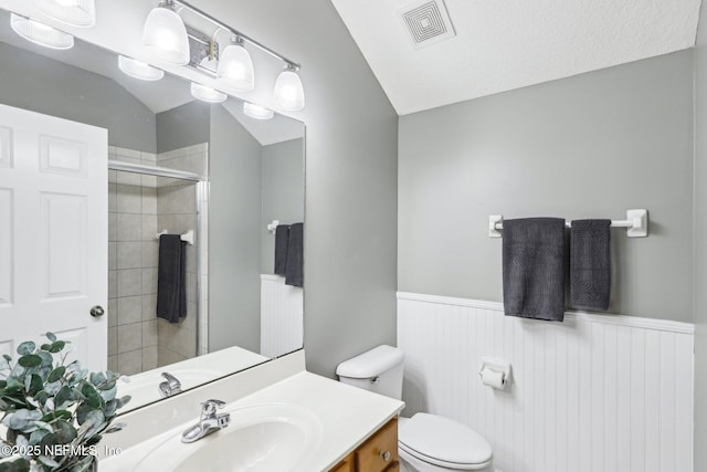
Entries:
{"type": "MultiPolygon", "coordinates": [[[[155,166],[157,156],[108,147],[108,158],[155,166]]],[[[108,368],[157,367],[157,178],[108,171],[108,368]]]]}

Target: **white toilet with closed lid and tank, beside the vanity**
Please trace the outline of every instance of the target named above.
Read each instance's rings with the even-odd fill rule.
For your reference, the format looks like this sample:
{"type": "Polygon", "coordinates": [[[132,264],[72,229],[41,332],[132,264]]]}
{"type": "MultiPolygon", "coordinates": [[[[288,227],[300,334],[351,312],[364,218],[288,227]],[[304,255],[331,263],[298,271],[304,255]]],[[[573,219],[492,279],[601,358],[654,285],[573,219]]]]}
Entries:
{"type": "MultiPolygon", "coordinates": [[[[378,346],[338,365],[339,380],[400,399],[402,350],[378,346]]],[[[403,472],[493,472],[490,444],[465,424],[439,415],[416,413],[398,420],[398,453],[403,472]]]]}

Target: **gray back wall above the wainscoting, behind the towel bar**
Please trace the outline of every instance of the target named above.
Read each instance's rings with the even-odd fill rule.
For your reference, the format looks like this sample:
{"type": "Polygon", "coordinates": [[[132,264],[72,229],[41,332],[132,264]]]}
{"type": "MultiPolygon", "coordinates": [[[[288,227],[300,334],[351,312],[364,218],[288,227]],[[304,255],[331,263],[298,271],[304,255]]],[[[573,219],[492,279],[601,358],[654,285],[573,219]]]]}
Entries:
{"type": "Polygon", "coordinates": [[[693,53],[400,118],[399,287],[502,301],[488,216],[625,218],[610,313],[692,321],[693,53]]]}

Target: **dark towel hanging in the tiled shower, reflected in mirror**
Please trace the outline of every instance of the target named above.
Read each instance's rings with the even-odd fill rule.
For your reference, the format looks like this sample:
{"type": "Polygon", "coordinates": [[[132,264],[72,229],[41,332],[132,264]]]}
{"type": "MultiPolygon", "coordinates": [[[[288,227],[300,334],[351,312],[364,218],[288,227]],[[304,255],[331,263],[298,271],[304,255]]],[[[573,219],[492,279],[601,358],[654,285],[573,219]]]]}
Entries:
{"type": "Polygon", "coordinates": [[[170,323],[187,316],[186,255],[187,242],[179,234],[159,237],[157,316],[170,323]]]}

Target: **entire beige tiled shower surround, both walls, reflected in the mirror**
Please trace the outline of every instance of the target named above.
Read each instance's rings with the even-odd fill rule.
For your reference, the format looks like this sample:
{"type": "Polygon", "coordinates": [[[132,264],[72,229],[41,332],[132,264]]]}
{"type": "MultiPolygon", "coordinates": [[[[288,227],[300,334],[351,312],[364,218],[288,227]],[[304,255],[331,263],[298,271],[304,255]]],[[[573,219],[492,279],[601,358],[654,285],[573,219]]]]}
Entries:
{"type": "MultiPolygon", "coordinates": [[[[205,174],[208,145],[155,155],[108,148],[108,158],[205,174]]],[[[197,247],[187,247],[187,317],[157,318],[156,234],[197,233],[196,185],[110,170],[108,175],[108,368],[131,375],[197,352],[197,247]]]]}

